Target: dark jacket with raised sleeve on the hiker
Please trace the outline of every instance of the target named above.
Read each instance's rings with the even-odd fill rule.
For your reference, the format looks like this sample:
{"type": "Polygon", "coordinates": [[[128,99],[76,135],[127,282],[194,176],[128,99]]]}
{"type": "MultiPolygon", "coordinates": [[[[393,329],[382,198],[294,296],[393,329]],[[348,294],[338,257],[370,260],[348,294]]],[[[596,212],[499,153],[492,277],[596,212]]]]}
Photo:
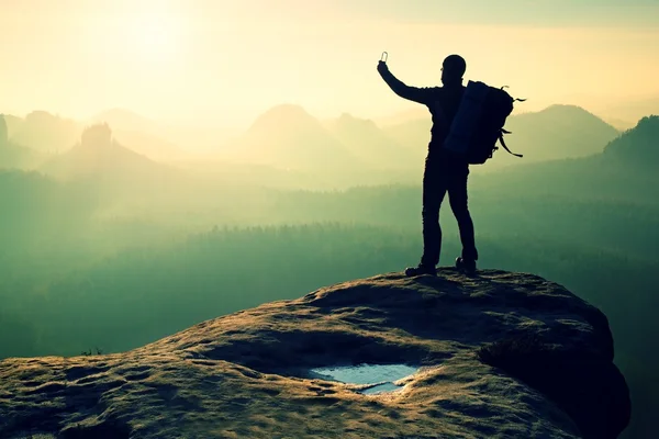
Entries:
{"type": "Polygon", "coordinates": [[[450,124],[458,112],[460,100],[465,93],[465,86],[410,87],[394,77],[386,65],[383,66],[384,67],[379,68],[378,71],[395,94],[410,101],[422,103],[428,108],[428,111],[433,115],[428,157],[444,156],[445,149],[442,148],[442,144],[444,144],[448,131],[450,130],[450,124]]]}

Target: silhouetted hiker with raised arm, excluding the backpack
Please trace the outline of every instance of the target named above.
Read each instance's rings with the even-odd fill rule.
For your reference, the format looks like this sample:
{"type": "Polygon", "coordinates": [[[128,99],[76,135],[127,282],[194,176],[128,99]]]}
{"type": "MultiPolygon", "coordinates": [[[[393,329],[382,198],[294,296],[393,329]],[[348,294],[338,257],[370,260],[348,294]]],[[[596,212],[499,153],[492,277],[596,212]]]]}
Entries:
{"type": "Polygon", "coordinates": [[[436,274],[436,266],[439,263],[442,251],[439,207],[447,192],[462,241],[462,255],[456,259],[456,266],[469,273],[476,271],[478,251],[473,222],[467,206],[469,164],[463,156],[443,148],[465,93],[462,76],[466,69],[467,64],[461,56],[449,55],[444,59],[442,66],[443,87],[418,88],[406,86],[396,79],[389,71],[386,60],[378,63],[378,72],[394,93],[426,105],[433,116],[431,142],[423,175],[423,256],[417,267],[410,267],[405,270],[405,274],[409,277],[436,274]]]}

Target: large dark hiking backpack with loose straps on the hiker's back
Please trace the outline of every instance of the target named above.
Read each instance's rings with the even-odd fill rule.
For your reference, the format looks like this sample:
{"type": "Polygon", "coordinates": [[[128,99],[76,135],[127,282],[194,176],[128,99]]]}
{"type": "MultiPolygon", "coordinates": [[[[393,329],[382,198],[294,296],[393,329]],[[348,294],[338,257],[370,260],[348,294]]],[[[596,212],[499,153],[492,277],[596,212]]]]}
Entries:
{"type": "Polygon", "coordinates": [[[503,125],[515,101],[524,100],[513,99],[503,87],[498,89],[483,82],[469,81],[444,147],[465,155],[471,165],[482,165],[492,158],[499,149],[496,142],[513,156],[522,157],[512,153],[503,140],[503,135],[510,134],[503,125]]]}

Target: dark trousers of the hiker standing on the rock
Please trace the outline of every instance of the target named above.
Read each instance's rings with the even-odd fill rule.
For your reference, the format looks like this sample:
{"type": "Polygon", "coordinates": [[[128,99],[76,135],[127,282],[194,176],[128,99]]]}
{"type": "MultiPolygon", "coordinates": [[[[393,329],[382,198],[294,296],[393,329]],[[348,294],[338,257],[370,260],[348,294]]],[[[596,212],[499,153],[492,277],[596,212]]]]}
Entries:
{"type": "Polygon", "coordinates": [[[423,175],[423,257],[422,264],[437,266],[442,251],[439,207],[448,192],[450,209],[458,221],[462,258],[478,260],[473,222],[467,207],[467,178],[469,167],[450,160],[426,158],[423,175]]]}

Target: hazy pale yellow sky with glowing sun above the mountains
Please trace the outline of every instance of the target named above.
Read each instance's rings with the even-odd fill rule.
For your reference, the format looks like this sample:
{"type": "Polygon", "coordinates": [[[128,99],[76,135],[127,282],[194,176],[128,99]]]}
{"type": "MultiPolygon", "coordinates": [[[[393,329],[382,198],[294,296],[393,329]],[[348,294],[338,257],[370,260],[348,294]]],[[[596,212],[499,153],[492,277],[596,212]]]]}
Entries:
{"type": "Polygon", "coordinates": [[[279,103],[319,117],[416,109],[405,83],[509,86],[525,111],[659,98],[659,0],[0,0],[0,112],[248,124],[279,103]]]}

